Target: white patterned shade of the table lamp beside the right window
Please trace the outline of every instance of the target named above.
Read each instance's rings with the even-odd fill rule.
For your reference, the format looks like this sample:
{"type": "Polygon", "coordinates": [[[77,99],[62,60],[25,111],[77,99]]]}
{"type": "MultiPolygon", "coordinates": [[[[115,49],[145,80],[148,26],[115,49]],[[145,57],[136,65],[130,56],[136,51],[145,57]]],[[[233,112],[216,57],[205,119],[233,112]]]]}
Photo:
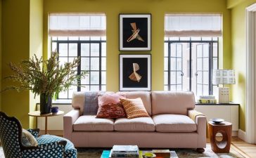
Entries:
{"type": "Polygon", "coordinates": [[[234,70],[213,70],[212,84],[236,84],[234,70]]]}

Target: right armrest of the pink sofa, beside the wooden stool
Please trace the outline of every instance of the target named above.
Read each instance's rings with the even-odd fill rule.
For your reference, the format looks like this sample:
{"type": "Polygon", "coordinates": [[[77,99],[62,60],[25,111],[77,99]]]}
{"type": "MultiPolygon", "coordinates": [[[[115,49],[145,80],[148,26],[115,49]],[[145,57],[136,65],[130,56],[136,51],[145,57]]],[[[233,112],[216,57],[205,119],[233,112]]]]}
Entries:
{"type": "Polygon", "coordinates": [[[198,133],[198,147],[205,147],[206,145],[206,130],[207,130],[207,120],[203,113],[196,110],[188,110],[188,117],[193,119],[197,124],[198,133]]]}

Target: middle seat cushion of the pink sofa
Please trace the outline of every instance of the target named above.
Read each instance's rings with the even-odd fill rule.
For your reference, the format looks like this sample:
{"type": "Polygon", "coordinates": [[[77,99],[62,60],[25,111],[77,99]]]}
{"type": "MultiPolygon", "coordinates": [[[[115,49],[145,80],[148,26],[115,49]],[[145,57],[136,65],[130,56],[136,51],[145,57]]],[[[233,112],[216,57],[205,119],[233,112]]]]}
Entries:
{"type": "Polygon", "coordinates": [[[115,131],[155,131],[155,124],[151,117],[119,118],[115,120],[114,129],[115,131]]]}

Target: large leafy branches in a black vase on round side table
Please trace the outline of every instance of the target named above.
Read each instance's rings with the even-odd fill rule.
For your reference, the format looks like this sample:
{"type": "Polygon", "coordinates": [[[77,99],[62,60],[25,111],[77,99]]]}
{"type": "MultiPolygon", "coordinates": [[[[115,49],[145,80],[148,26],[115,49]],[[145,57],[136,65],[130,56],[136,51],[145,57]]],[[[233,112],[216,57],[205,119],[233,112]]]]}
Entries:
{"type": "Polygon", "coordinates": [[[77,86],[77,80],[86,76],[87,72],[80,75],[75,72],[78,65],[79,58],[60,65],[56,51],[51,53],[48,60],[39,59],[34,55],[18,65],[10,62],[13,74],[6,79],[18,82],[18,86],[8,86],[5,90],[30,90],[34,97],[40,95],[40,112],[48,114],[51,112],[52,98],[56,99],[60,91],[67,91],[72,85],[77,86]]]}

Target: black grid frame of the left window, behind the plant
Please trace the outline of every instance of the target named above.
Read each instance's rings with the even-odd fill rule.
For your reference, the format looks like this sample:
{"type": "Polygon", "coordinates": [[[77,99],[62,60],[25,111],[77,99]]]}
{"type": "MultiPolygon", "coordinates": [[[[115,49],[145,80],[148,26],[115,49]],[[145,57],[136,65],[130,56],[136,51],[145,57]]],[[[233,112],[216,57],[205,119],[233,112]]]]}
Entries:
{"type": "MultiPolygon", "coordinates": [[[[67,56],[58,56],[58,60],[59,58],[79,58],[79,65],[77,66],[77,74],[81,74],[82,71],[87,71],[89,72],[89,77],[91,77],[91,72],[98,72],[99,73],[99,83],[98,84],[91,84],[91,78],[89,78],[89,84],[81,84],[81,80],[79,79],[77,81],[77,84],[79,86],[77,86],[77,91],[81,91],[81,86],[89,86],[89,91],[91,91],[91,86],[99,86],[99,91],[102,90],[102,86],[106,86],[105,84],[102,84],[102,78],[101,78],[101,73],[102,72],[106,72],[107,70],[102,70],[102,63],[101,60],[102,58],[107,58],[106,54],[105,56],[102,55],[102,44],[105,43],[106,44],[106,39],[103,37],[100,37],[100,40],[94,40],[92,38],[94,37],[88,37],[88,40],[80,40],[81,37],[78,37],[78,40],[69,40],[70,37],[67,37],[67,40],[58,40],[58,37],[55,37],[56,39],[53,39],[53,37],[51,37],[51,48],[53,47],[53,43],[56,43],[56,51],[59,52],[59,44],[68,44],[68,55],[67,56]],[[69,55],[69,44],[77,44],[77,56],[70,56],[69,55]],[[98,44],[99,46],[99,55],[94,57],[91,56],[91,46],[89,47],[89,56],[81,56],[81,45],[82,44],[98,44]],[[89,70],[81,70],[81,59],[82,58],[89,58],[89,70]],[[99,58],[99,70],[91,70],[91,58],[99,58]]],[[[68,61],[70,62],[70,61],[68,61]]],[[[68,91],[68,98],[59,98],[58,96],[58,100],[71,100],[72,98],[69,98],[69,91],[68,91]]]]}

